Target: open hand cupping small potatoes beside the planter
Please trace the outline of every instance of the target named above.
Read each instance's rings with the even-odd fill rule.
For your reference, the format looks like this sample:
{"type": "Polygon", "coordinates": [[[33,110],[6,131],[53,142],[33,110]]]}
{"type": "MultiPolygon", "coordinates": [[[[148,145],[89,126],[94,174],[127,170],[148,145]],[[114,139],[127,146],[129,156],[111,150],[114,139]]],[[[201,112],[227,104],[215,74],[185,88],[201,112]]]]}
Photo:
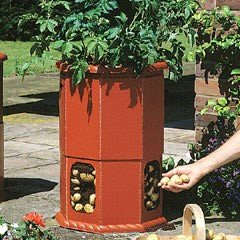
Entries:
{"type": "Polygon", "coordinates": [[[162,186],[162,188],[175,193],[188,190],[193,187],[205,175],[203,170],[204,168],[198,163],[176,167],[168,173],[164,173],[163,176],[171,178],[173,175],[180,176],[181,174],[187,174],[190,181],[188,183],[183,183],[182,185],[164,185],[162,186]]]}

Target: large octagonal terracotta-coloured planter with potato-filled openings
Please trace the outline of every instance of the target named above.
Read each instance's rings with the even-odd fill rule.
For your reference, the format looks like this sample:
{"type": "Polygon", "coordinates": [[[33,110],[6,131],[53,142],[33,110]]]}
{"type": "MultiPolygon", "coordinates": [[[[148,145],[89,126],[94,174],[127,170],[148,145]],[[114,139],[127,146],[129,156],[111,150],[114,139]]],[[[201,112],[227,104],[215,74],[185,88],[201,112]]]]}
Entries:
{"type": "Polygon", "coordinates": [[[90,66],[77,88],[71,85],[68,66],[58,67],[57,221],[89,232],[145,231],[165,222],[156,184],[161,177],[167,65],[157,63],[138,79],[132,69],[90,66]]]}

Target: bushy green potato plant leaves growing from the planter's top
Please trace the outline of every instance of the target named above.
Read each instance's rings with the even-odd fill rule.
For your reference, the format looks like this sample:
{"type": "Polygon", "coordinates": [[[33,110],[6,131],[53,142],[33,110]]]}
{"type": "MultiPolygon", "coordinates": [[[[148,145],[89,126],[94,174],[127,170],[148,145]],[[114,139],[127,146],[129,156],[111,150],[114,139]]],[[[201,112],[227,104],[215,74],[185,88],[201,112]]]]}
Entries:
{"type": "MultiPolygon", "coordinates": [[[[55,42],[62,60],[74,69],[75,84],[89,64],[133,66],[139,75],[149,64],[166,61],[170,79],[181,76],[185,48],[178,36],[184,34],[194,44],[196,32],[189,24],[198,1],[76,0],[74,12],[59,18],[55,10],[68,10],[67,2],[40,0],[41,11],[34,15],[40,34],[31,53],[41,57],[55,42]]],[[[29,16],[22,19],[21,24],[28,22],[29,16]]]]}

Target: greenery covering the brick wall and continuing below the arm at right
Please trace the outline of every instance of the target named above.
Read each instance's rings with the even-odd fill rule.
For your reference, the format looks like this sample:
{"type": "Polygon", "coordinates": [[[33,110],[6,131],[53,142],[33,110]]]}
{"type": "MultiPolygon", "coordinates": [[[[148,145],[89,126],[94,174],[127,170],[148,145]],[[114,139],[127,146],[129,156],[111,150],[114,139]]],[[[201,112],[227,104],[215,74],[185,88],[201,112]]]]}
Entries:
{"type": "MultiPolygon", "coordinates": [[[[198,160],[215,151],[236,131],[234,121],[240,116],[240,17],[224,6],[199,11],[193,25],[198,29],[197,61],[202,61],[207,74],[217,75],[220,89],[227,86],[224,97],[209,99],[201,111],[201,114],[216,112],[218,120],[203,130],[200,143],[191,145],[191,156],[198,160]]],[[[203,179],[198,186],[198,196],[210,213],[239,215],[239,177],[240,162],[236,161],[203,179]]]]}

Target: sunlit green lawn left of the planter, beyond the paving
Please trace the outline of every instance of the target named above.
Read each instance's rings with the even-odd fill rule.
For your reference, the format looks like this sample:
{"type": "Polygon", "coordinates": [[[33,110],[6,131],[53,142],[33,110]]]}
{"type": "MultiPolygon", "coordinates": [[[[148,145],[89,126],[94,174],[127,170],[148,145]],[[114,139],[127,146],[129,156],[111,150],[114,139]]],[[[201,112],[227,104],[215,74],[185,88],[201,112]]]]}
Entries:
{"type": "MultiPolygon", "coordinates": [[[[0,52],[8,55],[8,61],[4,63],[4,76],[16,75],[17,68],[21,67],[24,62],[31,58],[29,49],[31,42],[8,42],[0,41],[0,52]]],[[[60,59],[60,54],[54,52],[54,58],[60,59]]],[[[30,69],[29,74],[39,74],[43,72],[56,71],[55,61],[46,61],[44,66],[41,63],[34,64],[30,69]]]]}

